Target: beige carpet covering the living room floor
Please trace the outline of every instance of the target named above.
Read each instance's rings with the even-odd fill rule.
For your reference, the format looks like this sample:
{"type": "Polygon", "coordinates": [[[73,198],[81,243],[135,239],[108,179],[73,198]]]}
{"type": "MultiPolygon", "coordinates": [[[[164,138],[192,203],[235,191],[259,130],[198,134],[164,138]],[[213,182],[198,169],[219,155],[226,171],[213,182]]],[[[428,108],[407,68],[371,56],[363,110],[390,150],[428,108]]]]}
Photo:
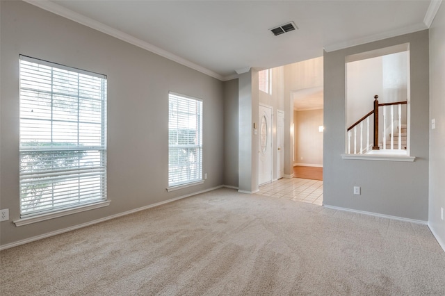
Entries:
{"type": "Polygon", "coordinates": [[[445,295],[428,227],[220,189],[3,250],[0,295],[445,295]]]}

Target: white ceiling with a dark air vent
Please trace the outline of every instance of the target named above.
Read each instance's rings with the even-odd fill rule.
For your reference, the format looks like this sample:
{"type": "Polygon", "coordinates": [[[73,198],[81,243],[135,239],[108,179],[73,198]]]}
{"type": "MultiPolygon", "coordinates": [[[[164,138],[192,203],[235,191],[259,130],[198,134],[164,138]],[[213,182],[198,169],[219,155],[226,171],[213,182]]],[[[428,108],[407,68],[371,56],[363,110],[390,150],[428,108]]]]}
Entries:
{"type": "Polygon", "coordinates": [[[440,1],[33,1],[220,80],[430,26],[440,1]],[[268,29],[293,21],[298,31],[268,29]]]}

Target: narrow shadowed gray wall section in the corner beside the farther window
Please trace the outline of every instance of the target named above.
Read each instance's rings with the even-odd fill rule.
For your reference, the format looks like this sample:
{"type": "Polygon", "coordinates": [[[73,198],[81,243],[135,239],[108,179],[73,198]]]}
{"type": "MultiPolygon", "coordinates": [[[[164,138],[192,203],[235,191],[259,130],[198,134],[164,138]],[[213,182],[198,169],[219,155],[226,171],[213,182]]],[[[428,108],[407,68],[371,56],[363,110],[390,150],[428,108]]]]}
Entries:
{"type": "Polygon", "coordinates": [[[224,184],[238,188],[238,79],[224,83],[224,184]]]}

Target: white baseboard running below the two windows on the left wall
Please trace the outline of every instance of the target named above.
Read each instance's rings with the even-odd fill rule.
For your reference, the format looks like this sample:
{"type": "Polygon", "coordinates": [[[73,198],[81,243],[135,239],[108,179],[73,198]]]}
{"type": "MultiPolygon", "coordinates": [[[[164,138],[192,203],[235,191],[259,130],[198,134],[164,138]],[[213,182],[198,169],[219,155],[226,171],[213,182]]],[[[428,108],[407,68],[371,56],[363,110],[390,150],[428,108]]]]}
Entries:
{"type": "Polygon", "coordinates": [[[143,206],[141,208],[135,208],[135,209],[130,210],[130,211],[126,211],[126,212],[118,213],[118,214],[115,214],[115,215],[103,217],[103,218],[100,218],[100,219],[97,219],[97,220],[93,220],[93,221],[90,221],[90,222],[74,225],[72,227],[67,227],[67,228],[64,228],[64,229],[51,231],[49,233],[44,233],[44,234],[41,234],[40,236],[33,236],[32,238],[26,238],[24,240],[18,240],[17,242],[11,242],[11,243],[6,244],[6,245],[1,245],[0,246],[0,251],[2,249],[9,249],[11,247],[17,247],[19,245],[24,245],[24,244],[26,244],[28,242],[34,242],[35,240],[41,240],[42,238],[49,238],[50,236],[57,236],[58,234],[61,234],[61,233],[65,233],[65,232],[68,232],[68,231],[73,231],[73,230],[80,229],[80,228],[83,228],[83,227],[87,227],[87,226],[90,226],[90,225],[93,225],[93,224],[97,224],[97,223],[100,223],[100,222],[105,222],[107,220],[111,220],[111,219],[114,219],[114,218],[117,218],[117,217],[122,217],[124,215],[129,215],[129,214],[137,213],[139,211],[144,211],[144,210],[147,210],[148,208],[154,208],[155,206],[161,206],[163,204],[168,204],[170,202],[175,202],[175,201],[177,201],[179,199],[184,199],[186,197],[191,197],[193,195],[199,195],[201,193],[209,192],[209,191],[216,190],[216,189],[222,188],[222,187],[225,187],[225,186],[221,185],[221,186],[216,186],[216,187],[209,188],[209,189],[206,189],[206,190],[201,190],[201,191],[198,191],[198,192],[193,192],[193,193],[190,193],[188,195],[182,195],[180,197],[175,197],[175,198],[172,198],[172,199],[168,199],[168,200],[165,200],[163,202],[157,202],[156,204],[149,204],[148,206],[143,206]]]}

